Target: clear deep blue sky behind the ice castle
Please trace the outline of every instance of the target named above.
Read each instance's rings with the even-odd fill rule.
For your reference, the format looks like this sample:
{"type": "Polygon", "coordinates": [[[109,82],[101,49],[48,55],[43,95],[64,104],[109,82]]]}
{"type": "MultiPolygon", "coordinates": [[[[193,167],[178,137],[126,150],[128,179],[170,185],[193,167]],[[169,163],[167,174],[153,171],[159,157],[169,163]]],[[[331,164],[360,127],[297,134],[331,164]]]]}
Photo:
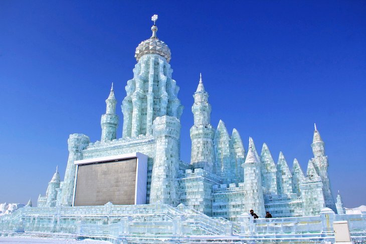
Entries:
{"type": "Polygon", "coordinates": [[[69,134],[100,140],[111,82],[120,105],[153,14],[185,106],[182,160],[202,72],[214,126],[305,171],[316,122],[333,193],[366,204],[364,1],[0,1],[0,202],[35,203],[56,165],[63,179],[69,134]]]}

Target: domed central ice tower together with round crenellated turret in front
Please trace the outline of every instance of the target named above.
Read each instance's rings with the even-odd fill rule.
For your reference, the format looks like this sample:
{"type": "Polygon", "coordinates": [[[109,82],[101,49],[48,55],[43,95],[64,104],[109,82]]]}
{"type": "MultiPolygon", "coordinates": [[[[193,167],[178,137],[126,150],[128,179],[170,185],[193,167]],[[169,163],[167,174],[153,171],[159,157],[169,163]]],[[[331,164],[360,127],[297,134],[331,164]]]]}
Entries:
{"type": "Polygon", "coordinates": [[[178,202],[177,178],[180,152],[179,87],[171,79],[170,49],[156,37],[157,15],[151,20],[152,36],[136,48],[133,79],[127,81],[122,102],[123,138],[141,135],[155,140],[149,203],[178,202]]]}

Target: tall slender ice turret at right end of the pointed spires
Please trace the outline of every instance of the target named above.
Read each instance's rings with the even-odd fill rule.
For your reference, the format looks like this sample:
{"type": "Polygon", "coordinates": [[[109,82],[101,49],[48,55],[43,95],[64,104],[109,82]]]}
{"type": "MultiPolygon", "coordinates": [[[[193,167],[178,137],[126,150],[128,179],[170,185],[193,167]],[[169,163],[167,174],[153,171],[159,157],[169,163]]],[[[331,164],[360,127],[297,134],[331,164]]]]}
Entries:
{"type": "Polygon", "coordinates": [[[336,206],[333,194],[330,190],[330,181],[328,175],[328,157],[325,155],[324,141],[321,139],[319,131],[314,124],[313,143],[311,144],[314,157],[311,159],[317,174],[323,183],[322,189],[324,194],[325,206],[336,212],[336,206]]]}

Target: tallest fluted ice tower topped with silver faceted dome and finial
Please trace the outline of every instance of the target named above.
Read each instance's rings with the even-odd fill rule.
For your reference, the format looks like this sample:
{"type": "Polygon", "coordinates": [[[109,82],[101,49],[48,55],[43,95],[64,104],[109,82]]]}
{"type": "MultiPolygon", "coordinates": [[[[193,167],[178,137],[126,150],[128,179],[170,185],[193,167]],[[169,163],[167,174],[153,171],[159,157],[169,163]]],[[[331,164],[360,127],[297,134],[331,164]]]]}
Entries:
{"type": "Polygon", "coordinates": [[[152,36],[136,48],[133,79],[127,81],[125,88],[127,96],[121,106],[123,138],[152,135],[152,123],[156,117],[168,115],[179,119],[182,113],[177,98],[179,87],[171,79],[170,49],[156,37],[155,16],[152,18],[152,36]]]}

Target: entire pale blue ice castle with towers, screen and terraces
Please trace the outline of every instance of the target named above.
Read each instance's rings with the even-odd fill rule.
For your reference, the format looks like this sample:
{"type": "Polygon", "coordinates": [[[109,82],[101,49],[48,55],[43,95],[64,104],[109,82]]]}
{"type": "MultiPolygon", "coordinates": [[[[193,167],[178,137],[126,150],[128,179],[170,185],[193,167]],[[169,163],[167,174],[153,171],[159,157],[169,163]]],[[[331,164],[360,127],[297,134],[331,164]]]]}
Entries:
{"type": "Polygon", "coordinates": [[[282,152],[276,164],[265,143],[259,153],[249,138],[246,150],[236,129],[230,135],[223,121],[217,128],[211,125],[202,77],[193,95],[191,161],[180,160],[183,107],[172,79],[170,49],[156,36],[156,19],[152,36],[136,48],[137,64],[121,105],[122,138],[116,138],[120,119],[112,84],[101,116],[101,140],[71,134],[64,180],[56,170],[37,207],[29,203],[0,218],[0,231],[104,236],[116,243],[150,243],[161,236],[178,243],[199,235],[250,242],[258,241],[258,234],[265,242],[277,232],[278,238],[290,235],[291,242],[334,239],[333,221],[347,220],[351,232],[364,235],[365,214],[351,218],[340,195],[334,201],[316,126],[314,156],[305,173],[296,159],[291,170],[282,152]],[[131,159],[136,160],[126,166],[131,159]],[[112,191],[106,193],[104,186],[112,191]],[[250,209],[260,218],[253,220],[250,209]],[[266,211],[274,218],[264,219],[266,211]]]}

